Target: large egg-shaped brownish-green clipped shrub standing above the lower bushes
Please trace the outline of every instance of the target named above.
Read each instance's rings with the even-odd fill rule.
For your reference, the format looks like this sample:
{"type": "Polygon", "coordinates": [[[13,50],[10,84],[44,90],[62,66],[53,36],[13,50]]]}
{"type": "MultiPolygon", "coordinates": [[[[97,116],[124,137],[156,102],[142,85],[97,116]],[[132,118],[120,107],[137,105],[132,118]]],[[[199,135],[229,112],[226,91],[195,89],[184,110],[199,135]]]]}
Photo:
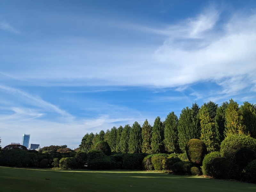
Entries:
{"type": "Polygon", "coordinates": [[[190,139],[186,144],[186,153],[191,163],[201,166],[207,154],[205,143],[199,139],[190,139]]]}

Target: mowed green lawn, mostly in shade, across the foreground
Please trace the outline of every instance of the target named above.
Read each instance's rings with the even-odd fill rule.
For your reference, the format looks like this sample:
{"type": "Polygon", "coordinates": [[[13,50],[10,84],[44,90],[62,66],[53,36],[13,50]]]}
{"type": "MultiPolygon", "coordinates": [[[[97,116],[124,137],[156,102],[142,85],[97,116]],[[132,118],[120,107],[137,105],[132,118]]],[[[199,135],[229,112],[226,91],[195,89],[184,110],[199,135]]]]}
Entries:
{"type": "Polygon", "coordinates": [[[146,171],[0,167],[0,191],[256,191],[256,185],[146,171]],[[49,178],[46,179],[46,178],[49,178]]]}

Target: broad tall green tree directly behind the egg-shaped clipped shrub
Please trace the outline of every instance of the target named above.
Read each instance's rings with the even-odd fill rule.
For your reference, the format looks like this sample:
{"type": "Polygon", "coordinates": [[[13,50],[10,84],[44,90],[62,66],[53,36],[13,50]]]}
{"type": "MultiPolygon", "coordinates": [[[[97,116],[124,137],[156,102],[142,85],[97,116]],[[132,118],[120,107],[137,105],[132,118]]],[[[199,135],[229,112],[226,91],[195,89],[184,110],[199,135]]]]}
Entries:
{"type": "MultiPolygon", "coordinates": [[[[198,110],[199,111],[199,110],[198,110]]],[[[178,122],[178,143],[180,150],[185,152],[185,147],[190,139],[199,139],[200,129],[198,130],[196,125],[197,119],[195,118],[194,111],[191,108],[183,108],[178,122]],[[199,133],[198,133],[199,132],[199,133]]],[[[199,118],[198,118],[199,121],[199,118]]]]}

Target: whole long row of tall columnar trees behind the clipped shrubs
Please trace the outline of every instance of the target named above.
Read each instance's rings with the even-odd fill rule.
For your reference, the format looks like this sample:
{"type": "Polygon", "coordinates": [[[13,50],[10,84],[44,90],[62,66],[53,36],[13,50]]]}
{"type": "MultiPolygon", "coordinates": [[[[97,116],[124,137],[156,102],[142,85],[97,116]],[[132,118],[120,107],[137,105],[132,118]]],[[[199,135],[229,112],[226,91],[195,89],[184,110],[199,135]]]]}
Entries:
{"type": "Polygon", "coordinates": [[[156,117],[152,125],[146,119],[141,126],[112,127],[106,132],[86,133],[79,150],[88,152],[99,141],[107,141],[111,151],[117,153],[181,153],[190,139],[200,139],[208,152],[219,151],[220,143],[232,134],[244,134],[256,138],[256,105],[247,101],[239,106],[232,99],[221,106],[209,101],[201,107],[193,103],[183,108],[179,118],[169,113],[164,121],[156,117]]]}

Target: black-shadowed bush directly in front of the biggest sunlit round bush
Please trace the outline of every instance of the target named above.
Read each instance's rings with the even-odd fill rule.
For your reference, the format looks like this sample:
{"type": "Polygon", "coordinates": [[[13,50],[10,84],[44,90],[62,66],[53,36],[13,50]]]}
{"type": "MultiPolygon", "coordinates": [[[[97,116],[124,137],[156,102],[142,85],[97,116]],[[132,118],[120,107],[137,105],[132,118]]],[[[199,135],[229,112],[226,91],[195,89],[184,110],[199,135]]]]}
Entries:
{"type": "Polygon", "coordinates": [[[244,168],[256,159],[256,152],[249,148],[239,149],[233,158],[233,177],[236,180],[241,180],[243,178],[244,168]]]}

